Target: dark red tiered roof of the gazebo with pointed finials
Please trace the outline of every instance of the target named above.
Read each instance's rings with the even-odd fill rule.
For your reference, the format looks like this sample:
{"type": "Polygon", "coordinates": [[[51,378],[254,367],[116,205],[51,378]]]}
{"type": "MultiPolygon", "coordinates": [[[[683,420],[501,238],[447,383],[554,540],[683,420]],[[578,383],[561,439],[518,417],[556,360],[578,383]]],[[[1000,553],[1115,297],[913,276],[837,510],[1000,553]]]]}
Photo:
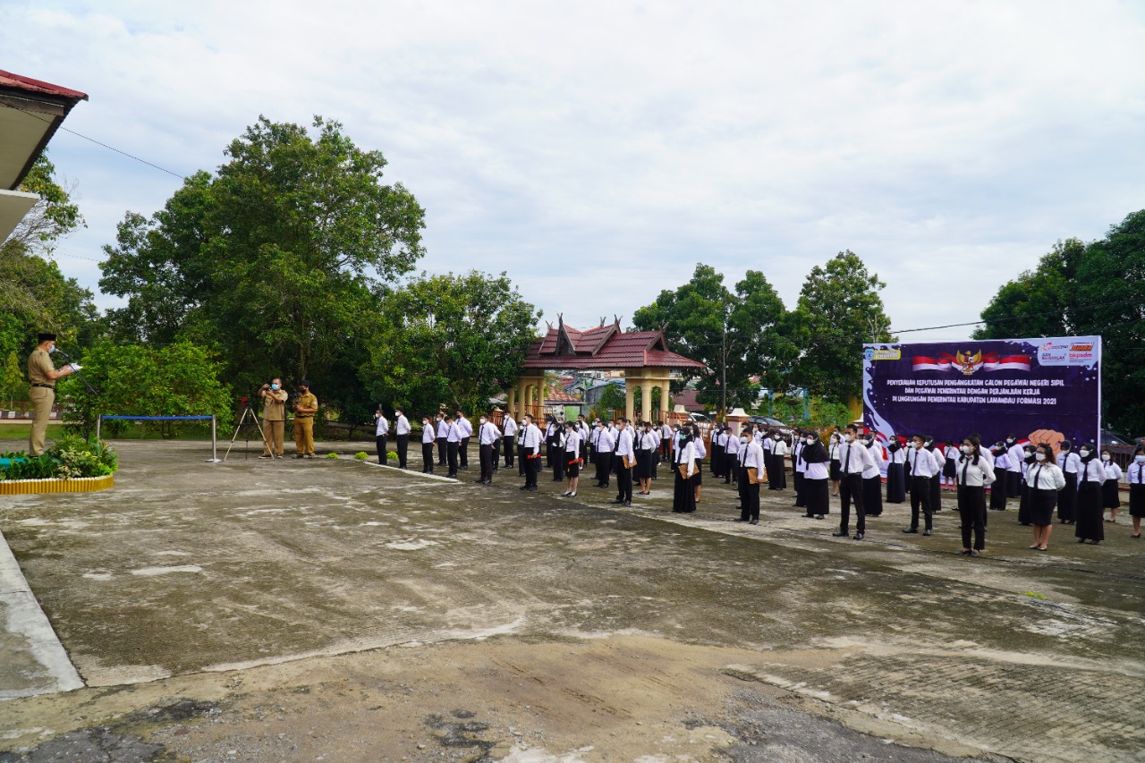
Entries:
{"type": "Polygon", "coordinates": [[[611,370],[627,368],[672,368],[700,371],[703,363],[668,348],[663,331],[621,331],[621,322],[578,331],[558,324],[532,343],[524,359],[528,369],[611,370]]]}

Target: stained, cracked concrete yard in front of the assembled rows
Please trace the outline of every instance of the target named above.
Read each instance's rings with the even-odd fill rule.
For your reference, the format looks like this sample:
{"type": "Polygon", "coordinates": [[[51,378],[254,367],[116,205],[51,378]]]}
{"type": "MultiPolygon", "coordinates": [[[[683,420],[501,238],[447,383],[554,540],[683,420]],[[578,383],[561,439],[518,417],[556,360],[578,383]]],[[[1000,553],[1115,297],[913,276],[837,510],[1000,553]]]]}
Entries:
{"type": "Polygon", "coordinates": [[[679,516],[666,479],[616,509],[547,473],[119,449],[111,490],[0,498],[86,684],[0,702],[0,761],[1145,757],[1128,526],[1036,553],[992,512],[966,559],[953,502],[856,542],[790,491],[733,522],[710,477],[679,516]]]}

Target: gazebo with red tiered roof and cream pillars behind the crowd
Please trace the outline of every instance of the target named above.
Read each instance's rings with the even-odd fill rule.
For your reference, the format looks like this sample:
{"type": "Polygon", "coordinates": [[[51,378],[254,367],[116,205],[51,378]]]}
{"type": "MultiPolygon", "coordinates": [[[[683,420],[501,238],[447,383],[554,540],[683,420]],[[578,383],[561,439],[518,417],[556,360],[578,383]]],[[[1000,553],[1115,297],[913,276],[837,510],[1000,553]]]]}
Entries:
{"type": "Polygon", "coordinates": [[[556,325],[537,339],[526,355],[521,378],[508,391],[507,408],[516,418],[540,412],[545,390],[545,371],[624,371],[624,411],[635,418],[633,400],[640,390],[640,418],[653,420],[652,393],[660,387],[662,409],[656,418],[664,420],[671,410],[669,387],[672,371],[701,371],[703,363],[671,352],[663,331],[621,331],[621,322],[578,331],[558,316],[556,325]]]}

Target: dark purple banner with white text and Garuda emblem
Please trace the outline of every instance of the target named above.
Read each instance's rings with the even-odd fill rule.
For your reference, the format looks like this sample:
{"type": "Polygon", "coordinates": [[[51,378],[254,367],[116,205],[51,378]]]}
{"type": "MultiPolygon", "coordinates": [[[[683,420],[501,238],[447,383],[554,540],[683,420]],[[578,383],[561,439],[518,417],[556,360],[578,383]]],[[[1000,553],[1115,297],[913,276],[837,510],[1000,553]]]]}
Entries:
{"type": "Polygon", "coordinates": [[[890,439],[1100,442],[1101,338],[863,345],[863,420],[890,439]]]}

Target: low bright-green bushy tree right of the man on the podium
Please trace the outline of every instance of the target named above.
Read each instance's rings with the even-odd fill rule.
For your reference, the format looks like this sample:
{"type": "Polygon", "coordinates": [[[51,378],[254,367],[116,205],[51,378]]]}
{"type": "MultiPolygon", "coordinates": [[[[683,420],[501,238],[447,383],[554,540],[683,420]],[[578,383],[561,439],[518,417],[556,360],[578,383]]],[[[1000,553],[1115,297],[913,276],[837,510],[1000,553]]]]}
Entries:
{"type": "MultiPolygon", "coordinates": [[[[65,377],[60,384],[64,420],[89,428],[88,418],[100,414],[120,416],[210,416],[226,427],[232,417],[230,390],[219,382],[220,364],[204,347],[189,341],[149,345],[96,344],[84,357],[84,376],[65,377]]],[[[145,426],[174,438],[187,422],[153,422],[145,426]]]]}

